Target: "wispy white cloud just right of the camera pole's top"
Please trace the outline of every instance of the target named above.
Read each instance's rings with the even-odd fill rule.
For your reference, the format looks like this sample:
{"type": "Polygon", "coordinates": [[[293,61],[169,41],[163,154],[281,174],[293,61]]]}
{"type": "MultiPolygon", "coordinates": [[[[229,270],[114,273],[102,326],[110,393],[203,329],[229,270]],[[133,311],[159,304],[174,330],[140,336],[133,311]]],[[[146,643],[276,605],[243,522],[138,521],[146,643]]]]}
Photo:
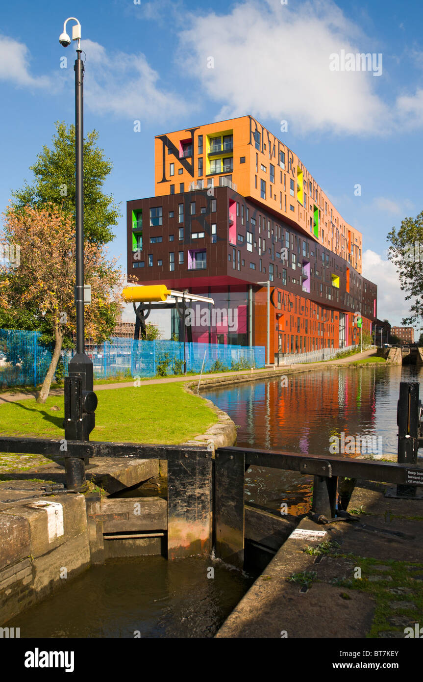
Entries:
{"type": "Polygon", "coordinates": [[[106,50],[92,40],[82,40],[82,47],[87,53],[84,95],[91,110],[157,122],[170,113],[187,115],[181,95],[159,85],[159,74],[142,53],[106,50]]]}

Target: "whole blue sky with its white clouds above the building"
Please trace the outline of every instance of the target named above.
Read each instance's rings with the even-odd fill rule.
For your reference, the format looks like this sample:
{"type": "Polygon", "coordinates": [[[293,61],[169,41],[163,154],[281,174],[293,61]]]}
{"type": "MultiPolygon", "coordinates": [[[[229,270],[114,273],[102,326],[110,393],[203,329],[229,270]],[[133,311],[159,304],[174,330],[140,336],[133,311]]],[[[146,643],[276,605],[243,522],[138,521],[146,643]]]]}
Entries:
{"type": "Polygon", "coordinates": [[[84,130],[113,163],[104,190],[122,218],[109,252],[124,272],[126,201],[154,194],[154,136],[251,114],[362,232],[378,317],[401,325],[408,305],[386,235],[423,210],[421,0],[3,3],[0,211],[31,181],[54,121],[74,122],[74,45],[59,44],[68,16],[87,55],[84,130]],[[332,70],[342,50],[371,53],[372,70],[332,70]]]}

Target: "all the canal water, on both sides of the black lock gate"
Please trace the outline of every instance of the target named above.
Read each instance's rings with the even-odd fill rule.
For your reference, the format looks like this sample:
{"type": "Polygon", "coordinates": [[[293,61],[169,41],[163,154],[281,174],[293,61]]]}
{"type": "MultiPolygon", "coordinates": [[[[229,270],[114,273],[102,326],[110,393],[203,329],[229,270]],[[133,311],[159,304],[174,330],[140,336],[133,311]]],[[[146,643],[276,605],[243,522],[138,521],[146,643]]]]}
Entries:
{"type": "MultiPolygon", "coordinates": [[[[399,383],[420,381],[421,372],[414,366],[313,370],[204,397],[232,417],[240,446],[328,454],[330,437],[344,432],[381,436],[375,456],[388,458],[396,455],[399,383]]],[[[311,477],[251,467],[245,492],[252,503],[275,510],[287,503],[290,513],[304,514],[311,477]]],[[[7,625],[20,627],[24,638],[213,637],[252,582],[253,576],[212,559],[116,559],[7,625]]]]}

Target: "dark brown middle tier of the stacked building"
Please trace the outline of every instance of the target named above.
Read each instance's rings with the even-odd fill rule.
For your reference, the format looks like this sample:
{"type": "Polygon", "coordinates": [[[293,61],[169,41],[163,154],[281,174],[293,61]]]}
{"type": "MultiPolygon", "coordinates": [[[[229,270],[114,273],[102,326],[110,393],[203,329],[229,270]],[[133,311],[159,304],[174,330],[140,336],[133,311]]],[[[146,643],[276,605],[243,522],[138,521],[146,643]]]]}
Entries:
{"type": "Polygon", "coordinates": [[[214,196],[195,190],[128,201],[127,265],[140,284],[198,290],[270,279],[270,287],[326,308],[360,311],[371,321],[377,314],[373,282],[294,222],[279,220],[228,187],[215,188],[214,196]],[[150,209],[156,209],[152,217],[150,209]],[[140,233],[142,250],[133,236],[140,233]]]}

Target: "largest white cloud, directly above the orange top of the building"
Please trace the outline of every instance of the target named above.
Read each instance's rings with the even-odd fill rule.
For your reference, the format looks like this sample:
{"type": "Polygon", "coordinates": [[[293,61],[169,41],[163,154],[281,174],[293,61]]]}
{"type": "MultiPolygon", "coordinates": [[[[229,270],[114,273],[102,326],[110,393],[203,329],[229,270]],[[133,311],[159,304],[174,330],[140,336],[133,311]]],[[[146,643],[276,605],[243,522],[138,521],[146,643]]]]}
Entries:
{"type": "Polygon", "coordinates": [[[296,132],[382,132],[390,108],[371,72],[333,72],[332,53],[379,52],[332,0],[281,5],[245,0],[228,14],[189,17],[181,61],[208,97],[224,102],[218,118],[252,113],[287,119],[296,132]],[[364,49],[364,44],[371,49],[364,49]],[[215,59],[207,68],[207,58],[215,59]]]}

